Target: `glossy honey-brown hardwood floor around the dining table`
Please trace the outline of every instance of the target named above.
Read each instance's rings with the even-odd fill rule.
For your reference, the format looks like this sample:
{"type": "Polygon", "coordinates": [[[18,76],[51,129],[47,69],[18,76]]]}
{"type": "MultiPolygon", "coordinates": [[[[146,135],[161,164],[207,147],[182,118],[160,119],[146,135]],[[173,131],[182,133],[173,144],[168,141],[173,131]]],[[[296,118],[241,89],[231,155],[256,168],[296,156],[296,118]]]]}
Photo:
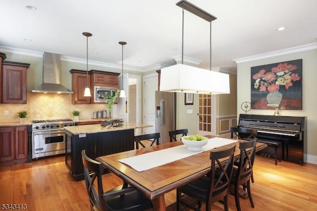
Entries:
{"type": "MultiPolygon", "coordinates": [[[[31,163],[0,166],[0,202],[26,204],[29,211],[89,211],[84,181],[76,182],[64,163],[64,156],[41,158],[31,163]]],[[[243,211],[316,211],[317,165],[299,166],[291,162],[256,157],[255,183],[251,184],[255,208],[240,198],[243,211]]],[[[103,175],[104,189],[122,184],[112,173],[103,175]],[[108,183],[106,183],[106,181],[108,183]]],[[[168,211],[174,211],[175,191],[165,194],[168,211]]],[[[234,197],[228,197],[235,211],[234,197]]],[[[223,210],[215,203],[212,210],[223,210]]]]}

